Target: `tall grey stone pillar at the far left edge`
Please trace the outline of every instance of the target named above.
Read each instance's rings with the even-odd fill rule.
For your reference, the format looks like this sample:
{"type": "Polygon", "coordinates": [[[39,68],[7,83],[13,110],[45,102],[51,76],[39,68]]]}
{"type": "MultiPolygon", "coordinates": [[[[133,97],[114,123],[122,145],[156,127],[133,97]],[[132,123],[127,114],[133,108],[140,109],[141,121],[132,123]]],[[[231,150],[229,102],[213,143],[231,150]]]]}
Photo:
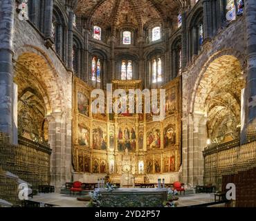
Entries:
{"type": "MultiPolygon", "coordinates": [[[[12,40],[15,1],[0,4],[0,131],[12,140],[12,40]]],[[[21,21],[22,22],[22,21],[21,21]]]]}

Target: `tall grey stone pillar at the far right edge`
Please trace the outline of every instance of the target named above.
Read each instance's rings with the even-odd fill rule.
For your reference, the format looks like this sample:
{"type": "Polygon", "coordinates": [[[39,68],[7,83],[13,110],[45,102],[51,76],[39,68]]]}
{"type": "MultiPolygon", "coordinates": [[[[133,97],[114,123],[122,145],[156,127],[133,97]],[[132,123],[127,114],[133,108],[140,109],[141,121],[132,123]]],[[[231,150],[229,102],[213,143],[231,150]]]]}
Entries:
{"type": "Polygon", "coordinates": [[[246,96],[248,105],[247,133],[256,132],[256,2],[246,0],[246,34],[248,47],[248,75],[246,79],[246,96]]]}

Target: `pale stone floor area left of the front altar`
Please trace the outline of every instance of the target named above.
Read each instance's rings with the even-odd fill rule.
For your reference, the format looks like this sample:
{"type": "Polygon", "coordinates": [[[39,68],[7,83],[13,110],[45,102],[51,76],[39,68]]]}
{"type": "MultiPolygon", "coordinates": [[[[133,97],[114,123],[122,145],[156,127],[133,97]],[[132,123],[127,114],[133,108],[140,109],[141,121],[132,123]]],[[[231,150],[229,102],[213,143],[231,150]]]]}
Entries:
{"type": "Polygon", "coordinates": [[[54,204],[56,207],[86,207],[89,204],[89,202],[78,201],[76,197],[70,197],[60,193],[39,193],[38,195],[34,195],[31,200],[54,204]]]}

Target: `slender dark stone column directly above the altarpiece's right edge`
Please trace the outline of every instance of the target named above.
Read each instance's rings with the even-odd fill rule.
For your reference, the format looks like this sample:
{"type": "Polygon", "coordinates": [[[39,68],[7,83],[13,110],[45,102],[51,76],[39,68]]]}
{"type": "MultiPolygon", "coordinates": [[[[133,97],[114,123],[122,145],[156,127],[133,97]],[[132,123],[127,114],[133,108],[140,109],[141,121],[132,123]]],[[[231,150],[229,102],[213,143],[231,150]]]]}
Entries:
{"type": "Polygon", "coordinates": [[[183,12],[182,15],[182,25],[181,25],[181,67],[182,70],[187,66],[187,22],[186,22],[186,13],[183,12]]]}

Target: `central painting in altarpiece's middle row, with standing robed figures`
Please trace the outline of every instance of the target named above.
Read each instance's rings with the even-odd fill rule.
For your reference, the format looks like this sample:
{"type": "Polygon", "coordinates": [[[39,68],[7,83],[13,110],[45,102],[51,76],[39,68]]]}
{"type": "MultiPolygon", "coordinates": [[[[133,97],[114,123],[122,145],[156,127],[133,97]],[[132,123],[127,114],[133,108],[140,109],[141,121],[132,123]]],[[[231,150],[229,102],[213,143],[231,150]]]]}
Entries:
{"type": "Polygon", "coordinates": [[[136,151],[136,131],[130,126],[120,126],[118,129],[118,151],[136,151]]]}

